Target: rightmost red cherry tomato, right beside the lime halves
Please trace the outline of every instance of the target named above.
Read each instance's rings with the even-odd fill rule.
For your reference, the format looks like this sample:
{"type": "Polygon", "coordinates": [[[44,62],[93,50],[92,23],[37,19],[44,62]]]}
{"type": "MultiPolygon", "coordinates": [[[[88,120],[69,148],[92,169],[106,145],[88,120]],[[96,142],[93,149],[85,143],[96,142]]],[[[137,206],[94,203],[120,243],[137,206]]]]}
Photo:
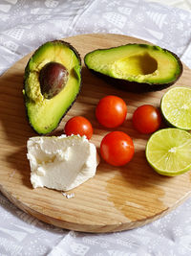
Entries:
{"type": "Polygon", "coordinates": [[[133,125],[141,133],[151,133],[159,129],[161,115],[153,105],[140,105],[133,115],[133,125]]]}

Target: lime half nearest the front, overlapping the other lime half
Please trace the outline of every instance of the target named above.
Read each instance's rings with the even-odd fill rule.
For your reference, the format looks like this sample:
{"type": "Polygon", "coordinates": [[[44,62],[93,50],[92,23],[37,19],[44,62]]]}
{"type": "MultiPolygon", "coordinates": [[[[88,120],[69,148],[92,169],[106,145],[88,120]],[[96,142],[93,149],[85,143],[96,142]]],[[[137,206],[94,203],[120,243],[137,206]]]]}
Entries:
{"type": "Polygon", "coordinates": [[[159,129],[147,142],[146,159],[160,175],[191,170],[191,134],[179,128],[159,129]]]}

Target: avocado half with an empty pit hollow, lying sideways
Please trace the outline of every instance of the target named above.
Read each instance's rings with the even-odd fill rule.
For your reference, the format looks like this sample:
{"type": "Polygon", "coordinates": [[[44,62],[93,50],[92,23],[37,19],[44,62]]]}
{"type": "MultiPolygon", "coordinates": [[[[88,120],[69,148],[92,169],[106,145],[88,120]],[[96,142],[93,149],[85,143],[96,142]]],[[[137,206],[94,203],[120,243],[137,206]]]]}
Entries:
{"type": "Polygon", "coordinates": [[[97,76],[133,92],[155,91],[178,81],[180,58],[159,46],[126,44],[88,53],[85,65],[97,76]]]}

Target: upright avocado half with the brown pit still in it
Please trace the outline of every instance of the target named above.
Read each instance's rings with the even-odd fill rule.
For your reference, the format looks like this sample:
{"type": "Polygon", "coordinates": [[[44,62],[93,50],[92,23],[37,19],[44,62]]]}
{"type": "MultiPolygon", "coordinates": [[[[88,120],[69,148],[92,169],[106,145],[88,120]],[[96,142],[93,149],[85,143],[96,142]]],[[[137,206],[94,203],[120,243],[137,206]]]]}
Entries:
{"type": "Polygon", "coordinates": [[[24,98],[32,128],[47,134],[57,128],[81,87],[81,59],[68,42],[40,46],[25,68],[24,98]]]}

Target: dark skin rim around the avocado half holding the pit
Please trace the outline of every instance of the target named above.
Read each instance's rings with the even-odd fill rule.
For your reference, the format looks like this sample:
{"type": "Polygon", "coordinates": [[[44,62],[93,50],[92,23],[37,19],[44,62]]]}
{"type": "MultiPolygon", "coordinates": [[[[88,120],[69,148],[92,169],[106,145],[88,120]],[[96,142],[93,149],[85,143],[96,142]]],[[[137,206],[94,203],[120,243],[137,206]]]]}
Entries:
{"type": "MultiPolygon", "coordinates": [[[[48,42],[46,42],[46,43],[49,43],[49,42],[51,42],[51,43],[53,43],[53,44],[54,44],[54,43],[55,43],[55,44],[56,44],[56,43],[63,44],[63,45],[65,45],[65,46],[67,46],[68,48],[70,48],[70,49],[74,52],[74,55],[75,55],[75,57],[78,59],[78,62],[79,62],[79,66],[80,66],[79,76],[80,76],[80,78],[81,78],[81,57],[80,57],[79,53],[77,52],[77,50],[74,48],[74,46],[73,46],[72,44],[70,44],[69,42],[66,42],[66,41],[64,41],[64,40],[53,40],[53,41],[48,41],[48,42]]],[[[45,43],[45,44],[46,44],[46,43],[45,43]]],[[[43,45],[44,45],[44,44],[43,44],[43,45]]],[[[32,54],[32,57],[37,53],[37,51],[39,50],[39,48],[42,47],[43,45],[39,46],[39,47],[34,51],[34,53],[32,54]]],[[[31,58],[32,58],[32,57],[31,57],[31,58]]],[[[30,60],[31,60],[31,58],[28,60],[28,63],[27,63],[27,65],[26,65],[26,67],[25,67],[24,80],[23,80],[23,86],[24,86],[23,88],[24,88],[24,90],[26,89],[26,80],[27,80],[27,77],[29,76],[29,73],[30,73],[30,60]]],[[[28,114],[28,109],[27,109],[27,107],[25,107],[25,108],[26,108],[26,116],[27,116],[28,121],[29,121],[29,124],[30,124],[31,128],[34,130],[34,132],[36,132],[36,133],[39,134],[39,135],[49,135],[50,133],[52,133],[53,130],[56,129],[56,128],[59,126],[60,122],[62,121],[62,119],[64,118],[64,116],[67,114],[67,112],[70,110],[70,108],[74,105],[74,102],[75,102],[77,96],[78,96],[79,93],[80,93],[81,86],[82,86],[82,82],[81,82],[81,80],[80,80],[78,92],[77,92],[77,94],[75,95],[74,101],[71,103],[71,105],[68,106],[68,108],[65,110],[65,112],[63,113],[63,115],[60,117],[60,119],[59,119],[59,121],[57,122],[56,126],[55,126],[51,131],[48,131],[48,132],[39,132],[38,130],[36,130],[36,128],[32,125],[32,122],[30,121],[30,117],[29,117],[29,114],[28,114]]],[[[23,90],[23,91],[24,91],[24,90],[23,90]]],[[[26,105],[27,102],[29,101],[29,97],[27,96],[26,93],[23,93],[23,96],[24,96],[24,104],[26,105]]]]}

